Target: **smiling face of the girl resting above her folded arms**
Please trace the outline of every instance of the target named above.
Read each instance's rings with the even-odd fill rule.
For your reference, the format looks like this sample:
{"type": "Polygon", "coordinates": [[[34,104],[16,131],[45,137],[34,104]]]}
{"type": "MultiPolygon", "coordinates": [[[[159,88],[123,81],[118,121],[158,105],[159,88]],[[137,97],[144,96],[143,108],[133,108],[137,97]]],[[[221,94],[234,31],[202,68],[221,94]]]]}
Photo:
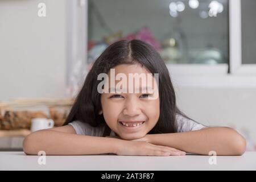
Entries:
{"type": "MultiPolygon", "coordinates": [[[[126,93],[102,93],[101,105],[104,119],[110,129],[122,139],[131,140],[144,137],[155,125],[159,119],[159,97],[154,97],[152,93],[139,90],[135,92],[138,85],[128,84],[129,73],[141,73],[146,77],[148,72],[140,64],[121,64],[114,67],[115,75],[123,73],[127,78],[126,93]],[[133,87],[133,93],[129,92],[129,86],[133,87]]],[[[113,79],[108,73],[109,80],[113,79]]],[[[152,83],[155,82],[154,75],[150,75],[152,83]]],[[[115,78],[114,78],[115,80],[115,78]]],[[[122,79],[121,79],[122,80],[122,79]]],[[[139,88],[143,88],[143,79],[139,81],[139,88]]],[[[148,80],[148,78],[147,78],[148,80]]],[[[130,80],[131,81],[131,80],[130,80]]],[[[109,81],[110,82],[110,81],[109,81]]],[[[115,80],[115,86],[120,80],[115,80]]],[[[123,85],[122,85],[123,86],[123,85]]],[[[121,89],[123,88],[121,86],[121,89]]],[[[158,93],[158,88],[154,88],[154,84],[147,85],[158,93]]],[[[110,84],[109,84],[110,88],[110,84]]],[[[115,87],[116,88],[116,87],[115,87]]],[[[120,86],[118,87],[120,88],[120,86]]]]}

